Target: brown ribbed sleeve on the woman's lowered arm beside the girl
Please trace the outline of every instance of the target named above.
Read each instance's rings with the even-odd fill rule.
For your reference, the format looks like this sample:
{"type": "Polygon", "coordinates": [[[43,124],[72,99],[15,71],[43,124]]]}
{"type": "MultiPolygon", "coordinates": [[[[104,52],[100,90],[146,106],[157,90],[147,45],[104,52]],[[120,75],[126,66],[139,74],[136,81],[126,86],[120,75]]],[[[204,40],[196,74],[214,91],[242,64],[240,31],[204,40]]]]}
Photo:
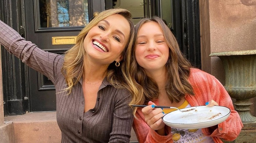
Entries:
{"type": "Polygon", "coordinates": [[[118,90],[116,105],[113,118],[112,132],[110,133],[109,143],[130,142],[133,124],[132,108],[128,105],[131,96],[127,90],[118,90]]]}

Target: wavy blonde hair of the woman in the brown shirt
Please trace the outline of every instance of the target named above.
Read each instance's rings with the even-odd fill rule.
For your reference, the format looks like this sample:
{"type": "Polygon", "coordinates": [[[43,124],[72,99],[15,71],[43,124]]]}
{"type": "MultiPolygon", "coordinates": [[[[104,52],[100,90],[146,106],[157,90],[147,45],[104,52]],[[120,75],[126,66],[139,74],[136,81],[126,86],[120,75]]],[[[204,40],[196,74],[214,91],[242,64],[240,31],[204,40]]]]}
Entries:
{"type": "MultiPolygon", "coordinates": [[[[84,47],[83,47],[83,41],[87,35],[87,33],[94,27],[98,22],[102,21],[103,19],[107,18],[110,15],[113,14],[120,14],[122,15],[130,24],[130,35],[129,39],[127,40],[127,44],[124,48],[124,51],[122,52],[122,55],[124,56],[127,47],[132,46],[132,42],[134,40],[134,24],[131,21],[131,13],[130,11],[126,9],[116,8],[116,9],[108,9],[105,11],[100,12],[89,24],[87,24],[81,32],[78,34],[76,38],[75,45],[65,52],[64,57],[64,63],[63,67],[61,69],[62,74],[65,77],[67,88],[64,89],[64,91],[67,91],[68,94],[72,92],[72,88],[75,84],[77,84],[82,77],[83,74],[83,67],[84,67],[84,55],[86,54],[84,47]]],[[[124,61],[125,58],[122,60],[124,61]]],[[[120,64],[122,63],[120,61],[120,64]]],[[[122,69],[123,65],[121,67],[116,67],[115,63],[111,63],[108,67],[107,71],[107,79],[108,81],[115,87],[123,88],[123,86],[126,86],[124,84],[124,78],[122,75],[122,69]]]]}

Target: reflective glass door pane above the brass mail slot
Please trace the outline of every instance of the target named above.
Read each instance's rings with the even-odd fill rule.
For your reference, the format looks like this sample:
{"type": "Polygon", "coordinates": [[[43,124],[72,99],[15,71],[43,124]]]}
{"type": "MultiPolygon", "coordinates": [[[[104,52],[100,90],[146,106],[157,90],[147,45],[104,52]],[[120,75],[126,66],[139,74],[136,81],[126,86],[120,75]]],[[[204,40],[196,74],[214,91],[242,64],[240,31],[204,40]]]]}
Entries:
{"type": "Polygon", "coordinates": [[[88,0],[39,0],[40,27],[85,26],[88,0]]]}

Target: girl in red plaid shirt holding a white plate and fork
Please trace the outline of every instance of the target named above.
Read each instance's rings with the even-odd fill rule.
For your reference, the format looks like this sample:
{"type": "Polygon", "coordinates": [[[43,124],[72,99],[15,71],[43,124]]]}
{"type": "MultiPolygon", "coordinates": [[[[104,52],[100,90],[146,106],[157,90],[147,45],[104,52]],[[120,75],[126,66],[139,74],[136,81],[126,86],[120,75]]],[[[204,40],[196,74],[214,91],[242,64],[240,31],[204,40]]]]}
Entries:
{"type": "Polygon", "coordinates": [[[133,128],[140,143],[221,143],[221,138],[231,141],[239,135],[243,124],[223,85],[214,76],[191,67],[160,18],[141,20],[135,26],[135,37],[134,47],[127,55],[131,58],[131,65],[127,63],[130,78],[137,87],[130,104],[148,105],[134,111],[133,128]],[[226,106],[231,114],[213,127],[182,130],[163,123],[163,113],[170,109],[154,108],[154,105],[185,108],[204,104],[226,106]]]}

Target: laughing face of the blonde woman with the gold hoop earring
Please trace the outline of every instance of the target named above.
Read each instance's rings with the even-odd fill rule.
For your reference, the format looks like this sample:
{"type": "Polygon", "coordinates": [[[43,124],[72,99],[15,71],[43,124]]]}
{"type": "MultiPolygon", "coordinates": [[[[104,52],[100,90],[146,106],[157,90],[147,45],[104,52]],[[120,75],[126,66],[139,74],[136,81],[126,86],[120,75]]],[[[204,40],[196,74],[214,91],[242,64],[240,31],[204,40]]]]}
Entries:
{"type": "Polygon", "coordinates": [[[113,14],[96,24],[84,39],[86,58],[109,65],[122,60],[122,51],[130,36],[129,22],[113,14]]]}

